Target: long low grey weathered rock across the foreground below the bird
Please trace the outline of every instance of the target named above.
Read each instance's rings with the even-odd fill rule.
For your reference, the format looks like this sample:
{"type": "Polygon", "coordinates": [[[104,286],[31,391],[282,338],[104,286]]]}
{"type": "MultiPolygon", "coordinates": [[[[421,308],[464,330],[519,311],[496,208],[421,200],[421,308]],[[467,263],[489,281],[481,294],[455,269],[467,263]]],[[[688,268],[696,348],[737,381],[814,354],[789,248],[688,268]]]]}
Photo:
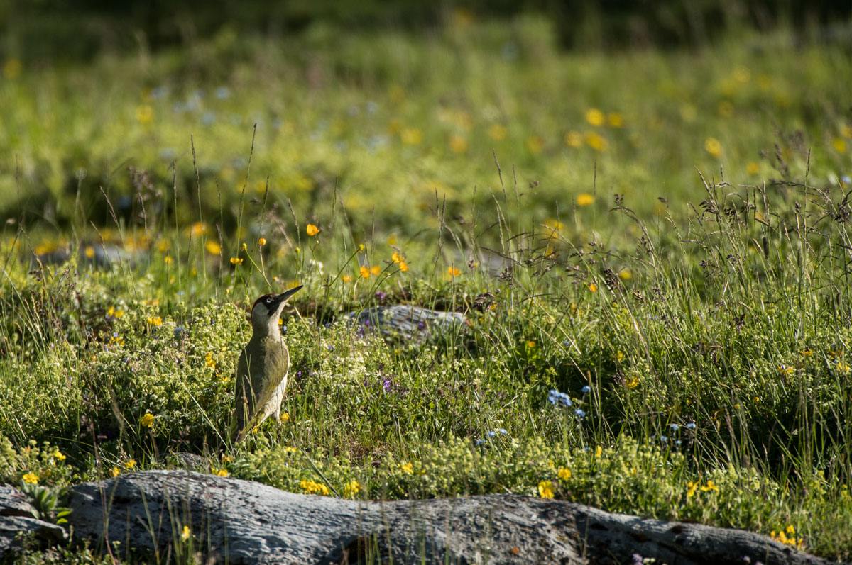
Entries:
{"type": "Polygon", "coordinates": [[[75,537],[119,541],[118,557],[175,555],[186,526],[204,562],[823,562],[761,534],[517,495],[361,502],[146,471],[78,485],[69,505],[75,537]]]}

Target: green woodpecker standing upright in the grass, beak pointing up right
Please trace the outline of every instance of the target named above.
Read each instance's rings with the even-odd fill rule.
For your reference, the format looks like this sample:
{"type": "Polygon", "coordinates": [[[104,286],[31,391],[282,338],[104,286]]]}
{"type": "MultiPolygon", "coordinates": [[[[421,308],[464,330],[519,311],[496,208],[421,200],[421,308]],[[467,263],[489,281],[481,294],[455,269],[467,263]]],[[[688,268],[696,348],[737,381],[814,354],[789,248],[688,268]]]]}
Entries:
{"type": "Polygon", "coordinates": [[[232,442],[243,441],[246,431],[261,425],[270,415],[281,417],[290,354],[281,339],[278,320],[287,299],[299,288],[302,286],[281,294],[264,294],[251,306],[251,339],[237,362],[232,442]]]}

